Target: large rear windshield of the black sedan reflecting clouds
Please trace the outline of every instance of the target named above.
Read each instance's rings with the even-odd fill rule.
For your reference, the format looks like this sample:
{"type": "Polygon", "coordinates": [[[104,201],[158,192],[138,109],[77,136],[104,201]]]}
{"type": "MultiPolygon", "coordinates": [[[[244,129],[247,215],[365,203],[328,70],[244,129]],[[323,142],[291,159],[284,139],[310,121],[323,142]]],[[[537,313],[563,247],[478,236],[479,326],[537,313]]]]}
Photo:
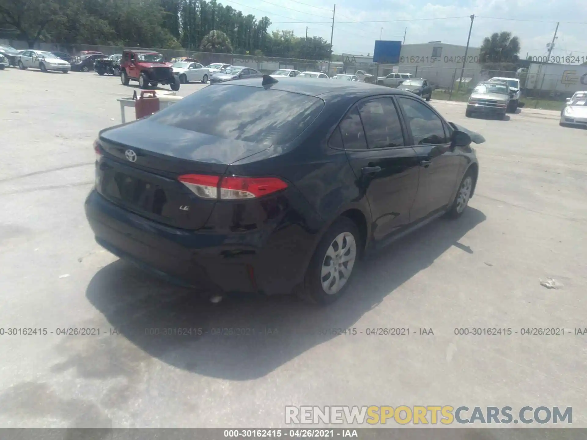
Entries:
{"type": "Polygon", "coordinates": [[[313,96],[215,84],[158,111],[149,120],[226,139],[279,145],[299,136],[323,106],[313,96]]]}

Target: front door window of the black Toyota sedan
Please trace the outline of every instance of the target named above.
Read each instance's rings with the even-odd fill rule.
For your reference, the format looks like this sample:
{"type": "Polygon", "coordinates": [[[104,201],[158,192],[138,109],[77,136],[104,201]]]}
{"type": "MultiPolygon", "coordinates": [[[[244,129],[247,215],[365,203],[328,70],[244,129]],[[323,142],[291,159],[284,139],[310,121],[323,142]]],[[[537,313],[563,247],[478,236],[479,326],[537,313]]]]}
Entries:
{"type": "Polygon", "coordinates": [[[397,101],[406,115],[414,145],[447,143],[442,120],[426,104],[404,97],[398,97],[397,101]]]}

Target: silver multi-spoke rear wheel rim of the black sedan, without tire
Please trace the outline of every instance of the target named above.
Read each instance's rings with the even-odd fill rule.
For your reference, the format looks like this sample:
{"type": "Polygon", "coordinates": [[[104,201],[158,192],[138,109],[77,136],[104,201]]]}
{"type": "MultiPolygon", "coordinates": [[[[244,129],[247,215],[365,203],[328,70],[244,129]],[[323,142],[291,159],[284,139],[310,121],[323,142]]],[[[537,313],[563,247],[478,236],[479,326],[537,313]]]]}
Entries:
{"type": "Polygon", "coordinates": [[[357,256],[357,243],[350,232],[342,232],[328,246],[322,260],[322,289],[335,295],[348,282],[357,256]]]}

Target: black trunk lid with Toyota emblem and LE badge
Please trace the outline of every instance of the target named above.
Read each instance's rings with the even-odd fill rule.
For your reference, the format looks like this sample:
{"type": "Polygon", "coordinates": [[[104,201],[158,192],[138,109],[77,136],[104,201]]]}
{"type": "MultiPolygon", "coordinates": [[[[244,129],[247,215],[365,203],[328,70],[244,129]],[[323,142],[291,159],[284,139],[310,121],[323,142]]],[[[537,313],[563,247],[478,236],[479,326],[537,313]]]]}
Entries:
{"type": "Polygon", "coordinates": [[[100,133],[103,157],[96,189],[114,204],[183,229],[200,229],[215,199],[197,197],[177,180],[184,174],[222,175],[228,165],[267,145],[227,140],[151,123],[148,119],[100,133]]]}

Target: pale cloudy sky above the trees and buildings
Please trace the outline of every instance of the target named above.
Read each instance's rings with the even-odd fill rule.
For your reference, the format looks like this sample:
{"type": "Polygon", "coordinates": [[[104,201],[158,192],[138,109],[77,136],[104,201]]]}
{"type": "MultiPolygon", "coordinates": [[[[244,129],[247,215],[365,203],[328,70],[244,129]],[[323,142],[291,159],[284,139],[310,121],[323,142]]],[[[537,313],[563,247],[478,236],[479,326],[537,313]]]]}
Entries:
{"type": "Polygon", "coordinates": [[[266,15],[274,29],[292,29],[303,36],[330,40],[336,2],[335,53],[373,54],[375,40],[403,39],[406,44],[440,40],[465,45],[471,14],[475,14],[471,46],[480,46],[492,32],[510,31],[521,40],[520,56],[546,55],[556,22],[561,22],[553,56],[587,60],[587,2],[584,0],[219,0],[258,18],[266,15]],[[430,20],[434,18],[433,20],[430,20]],[[441,19],[436,19],[441,18],[441,19]],[[427,20],[424,20],[427,19],[427,20]],[[515,20],[512,20],[515,19],[515,20]],[[411,20],[411,21],[399,21],[411,20]],[[383,28],[383,29],[382,29],[383,28]]]}

